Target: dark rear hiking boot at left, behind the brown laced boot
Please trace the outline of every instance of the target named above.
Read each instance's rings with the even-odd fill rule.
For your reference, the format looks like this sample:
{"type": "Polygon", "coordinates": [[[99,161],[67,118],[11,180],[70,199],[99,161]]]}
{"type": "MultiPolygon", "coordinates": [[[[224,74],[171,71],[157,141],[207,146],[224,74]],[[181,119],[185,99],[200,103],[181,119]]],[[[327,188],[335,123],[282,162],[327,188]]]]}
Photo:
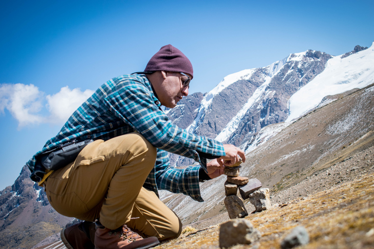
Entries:
{"type": "Polygon", "coordinates": [[[95,230],[94,223],[83,221],[64,228],[61,231],[61,240],[68,249],[94,249],[90,233],[95,230]],[[90,232],[91,231],[91,232],[90,232]]]}

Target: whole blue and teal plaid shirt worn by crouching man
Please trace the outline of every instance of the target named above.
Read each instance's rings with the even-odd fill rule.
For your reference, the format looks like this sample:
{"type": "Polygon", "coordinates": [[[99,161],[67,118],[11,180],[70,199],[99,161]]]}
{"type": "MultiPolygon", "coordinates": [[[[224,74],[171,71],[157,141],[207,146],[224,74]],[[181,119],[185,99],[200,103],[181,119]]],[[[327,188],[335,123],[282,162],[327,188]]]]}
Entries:
{"type": "MultiPolygon", "coordinates": [[[[106,82],[70,116],[56,137],[26,164],[34,173],[38,155],[71,141],[104,141],[137,131],[157,147],[157,159],[144,187],[158,195],[158,189],[183,193],[203,201],[199,169],[206,170],[206,156],[224,156],[221,142],[196,136],[173,125],[160,109],[144,74],[122,75],[106,82]],[[201,166],[177,169],[169,164],[168,152],[200,162],[201,166]]],[[[35,175],[35,174],[34,174],[35,175]]]]}

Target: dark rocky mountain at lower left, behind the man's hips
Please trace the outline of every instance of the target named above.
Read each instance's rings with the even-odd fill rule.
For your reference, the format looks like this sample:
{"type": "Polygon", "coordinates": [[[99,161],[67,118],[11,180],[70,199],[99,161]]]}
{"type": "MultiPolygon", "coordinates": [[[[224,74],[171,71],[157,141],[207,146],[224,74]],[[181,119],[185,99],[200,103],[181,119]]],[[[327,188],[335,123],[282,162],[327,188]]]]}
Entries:
{"type": "Polygon", "coordinates": [[[0,192],[0,248],[31,248],[72,220],[57,213],[25,166],[12,186],[0,192]]]}

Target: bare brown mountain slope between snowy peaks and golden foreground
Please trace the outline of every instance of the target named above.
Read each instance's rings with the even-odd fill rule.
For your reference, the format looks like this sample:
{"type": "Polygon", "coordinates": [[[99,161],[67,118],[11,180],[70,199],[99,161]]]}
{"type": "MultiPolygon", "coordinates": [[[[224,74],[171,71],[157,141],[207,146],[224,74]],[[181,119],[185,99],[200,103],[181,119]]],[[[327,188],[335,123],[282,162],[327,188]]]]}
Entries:
{"type": "MultiPolygon", "coordinates": [[[[374,173],[374,84],[331,98],[336,100],[293,123],[262,128],[259,137],[267,141],[246,154],[240,175],[258,178],[262,187],[270,189],[273,201],[286,202],[334,186],[360,171],[374,173]]],[[[161,198],[183,224],[212,217],[221,221],[228,218],[225,180],[223,176],[202,183],[205,201],[201,203],[167,191],[161,198]]],[[[248,202],[246,207],[248,212],[254,210],[248,202]]]]}

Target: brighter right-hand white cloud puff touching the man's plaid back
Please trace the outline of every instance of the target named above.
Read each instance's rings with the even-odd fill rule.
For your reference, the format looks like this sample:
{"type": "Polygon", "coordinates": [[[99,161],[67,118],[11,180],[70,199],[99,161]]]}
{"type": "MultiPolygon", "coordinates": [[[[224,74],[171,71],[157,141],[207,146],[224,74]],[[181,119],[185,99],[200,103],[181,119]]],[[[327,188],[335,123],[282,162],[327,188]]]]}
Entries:
{"type": "Polygon", "coordinates": [[[66,122],[70,115],[92,94],[93,90],[87,89],[82,92],[79,88],[71,90],[66,86],[61,88],[56,94],[47,95],[47,108],[51,113],[50,122],[66,122]]]}

